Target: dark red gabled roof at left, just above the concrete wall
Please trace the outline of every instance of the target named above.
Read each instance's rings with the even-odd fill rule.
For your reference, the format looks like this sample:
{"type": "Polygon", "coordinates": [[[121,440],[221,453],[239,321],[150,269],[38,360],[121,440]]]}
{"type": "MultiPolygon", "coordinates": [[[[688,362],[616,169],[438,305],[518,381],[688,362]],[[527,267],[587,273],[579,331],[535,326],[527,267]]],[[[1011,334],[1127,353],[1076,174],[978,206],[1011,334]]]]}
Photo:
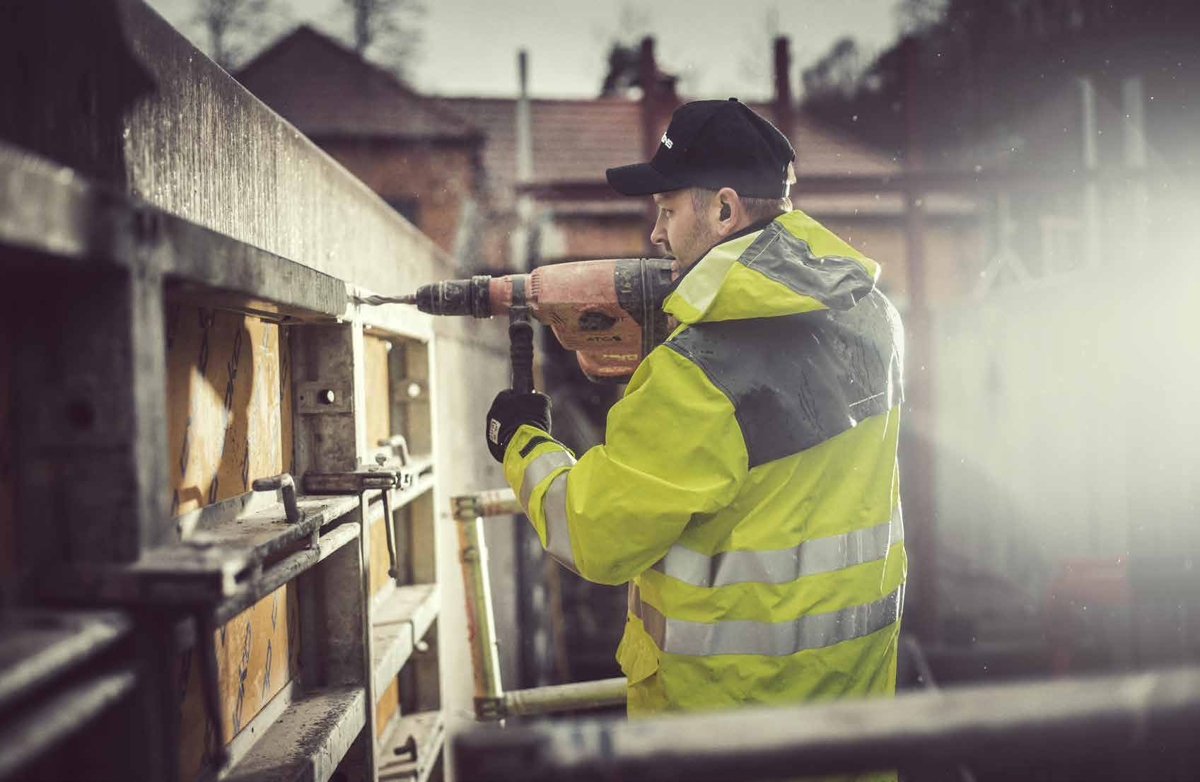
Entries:
{"type": "Polygon", "coordinates": [[[340,42],[307,25],[236,78],[311,137],[475,140],[479,131],[340,42]]]}

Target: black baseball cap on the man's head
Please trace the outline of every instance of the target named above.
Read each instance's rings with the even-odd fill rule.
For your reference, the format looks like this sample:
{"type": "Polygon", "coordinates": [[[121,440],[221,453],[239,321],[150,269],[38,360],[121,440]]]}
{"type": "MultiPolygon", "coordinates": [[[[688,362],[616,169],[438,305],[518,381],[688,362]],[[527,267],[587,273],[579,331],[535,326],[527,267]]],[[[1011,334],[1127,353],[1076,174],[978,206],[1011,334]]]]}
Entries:
{"type": "Polygon", "coordinates": [[[605,175],[624,196],[732,187],[748,198],[782,198],[794,160],[787,137],[737,98],[694,101],[671,115],[649,163],[610,168],[605,175]]]}

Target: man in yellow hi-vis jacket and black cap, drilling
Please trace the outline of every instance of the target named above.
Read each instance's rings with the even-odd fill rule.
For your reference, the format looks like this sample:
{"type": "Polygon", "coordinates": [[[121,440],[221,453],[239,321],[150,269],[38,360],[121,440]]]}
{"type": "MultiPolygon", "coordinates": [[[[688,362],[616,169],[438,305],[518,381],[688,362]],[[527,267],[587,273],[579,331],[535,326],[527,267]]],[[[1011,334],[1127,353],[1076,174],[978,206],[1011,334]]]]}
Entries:
{"type": "Polygon", "coordinates": [[[631,581],[629,712],[890,694],[906,558],[902,335],[878,266],[791,209],[788,140],[733,98],[680,107],[649,163],[679,323],[578,462],[550,399],[503,391],[488,446],[546,551],[631,581]]]}

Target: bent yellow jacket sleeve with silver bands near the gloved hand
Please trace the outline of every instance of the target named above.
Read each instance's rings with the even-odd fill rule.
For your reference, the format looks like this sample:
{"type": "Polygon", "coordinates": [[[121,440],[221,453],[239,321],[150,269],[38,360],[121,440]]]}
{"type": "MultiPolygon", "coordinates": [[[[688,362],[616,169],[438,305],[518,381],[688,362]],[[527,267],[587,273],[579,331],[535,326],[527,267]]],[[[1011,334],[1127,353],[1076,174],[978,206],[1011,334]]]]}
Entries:
{"type": "Polygon", "coordinates": [[[604,445],[576,462],[527,425],[504,456],[546,552],[602,584],[646,571],[694,515],[728,505],[746,465],[733,404],[667,345],[647,356],[610,410],[604,445]]]}

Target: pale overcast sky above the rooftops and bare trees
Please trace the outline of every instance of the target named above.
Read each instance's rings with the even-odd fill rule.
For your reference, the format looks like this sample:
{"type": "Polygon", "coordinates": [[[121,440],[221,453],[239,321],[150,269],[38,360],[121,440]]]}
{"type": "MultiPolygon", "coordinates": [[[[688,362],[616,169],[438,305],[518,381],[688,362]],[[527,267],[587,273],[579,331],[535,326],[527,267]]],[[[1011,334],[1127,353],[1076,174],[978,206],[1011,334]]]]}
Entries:
{"type": "MultiPolygon", "coordinates": [[[[341,0],[276,1],[293,25],[307,22],[334,34],[347,26],[341,0]]],[[[176,28],[193,30],[197,0],[150,5],[176,28]]],[[[648,29],[658,38],[660,67],[683,78],[684,95],[767,97],[773,32],[791,37],[799,66],[844,35],[877,52],[895,37],[894,7],[895,0],[425,0],[414,80],[426,92],[512,95],[516,52],[526,48],[535,96],[593,97],[611,41],[648,29]],[[635,23],[623,25],[630,16],[635,23]]]]}

